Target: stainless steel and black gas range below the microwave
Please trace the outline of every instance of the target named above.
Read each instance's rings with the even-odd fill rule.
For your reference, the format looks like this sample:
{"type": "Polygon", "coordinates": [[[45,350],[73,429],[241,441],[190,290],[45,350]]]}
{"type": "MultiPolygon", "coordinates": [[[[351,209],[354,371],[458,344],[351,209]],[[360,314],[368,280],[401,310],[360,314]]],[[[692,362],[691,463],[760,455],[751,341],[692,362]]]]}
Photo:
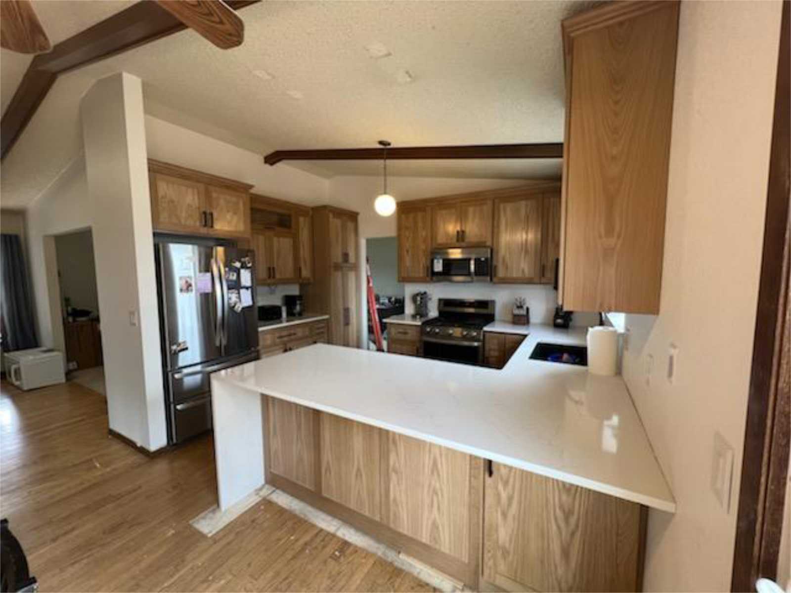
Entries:
{"type": "Polygon", "coordinates": [[[494,300],[440,299],[437,313],[422,324],[423,356],[483,364],[483,328],[494,321],[494,300]]]}

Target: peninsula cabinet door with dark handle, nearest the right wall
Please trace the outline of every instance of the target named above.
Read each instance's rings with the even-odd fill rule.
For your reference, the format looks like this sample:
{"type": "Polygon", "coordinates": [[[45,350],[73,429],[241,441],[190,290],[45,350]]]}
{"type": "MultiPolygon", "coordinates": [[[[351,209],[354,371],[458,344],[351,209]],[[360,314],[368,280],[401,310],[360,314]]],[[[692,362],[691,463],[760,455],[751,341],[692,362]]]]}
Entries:
{"type": "Polygon", "coordinates": [[[639,504],[492,463],[483,578],[506,591],[640,591],[639,504]]]}

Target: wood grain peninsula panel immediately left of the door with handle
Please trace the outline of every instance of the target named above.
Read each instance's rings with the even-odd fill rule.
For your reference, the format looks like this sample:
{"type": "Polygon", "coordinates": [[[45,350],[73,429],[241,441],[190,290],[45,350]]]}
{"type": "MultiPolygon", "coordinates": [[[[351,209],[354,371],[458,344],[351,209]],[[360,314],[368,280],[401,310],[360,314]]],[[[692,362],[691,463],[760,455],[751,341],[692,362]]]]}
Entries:
{"type": "Polygon", "coordinates": [[[390,527],[467,560],[470,456],[388,433],[390,527]]]}

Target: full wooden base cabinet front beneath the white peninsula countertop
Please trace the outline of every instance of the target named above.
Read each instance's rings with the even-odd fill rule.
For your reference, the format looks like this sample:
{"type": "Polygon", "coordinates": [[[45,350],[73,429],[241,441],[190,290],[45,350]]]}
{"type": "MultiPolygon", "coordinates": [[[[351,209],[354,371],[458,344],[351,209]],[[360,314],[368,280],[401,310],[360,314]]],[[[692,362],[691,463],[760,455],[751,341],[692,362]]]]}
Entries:
{"type": "Polygon", "coordinates": [[[467,587],[642,587],[640,504],[263,397],[268,484],[467,587]]]}

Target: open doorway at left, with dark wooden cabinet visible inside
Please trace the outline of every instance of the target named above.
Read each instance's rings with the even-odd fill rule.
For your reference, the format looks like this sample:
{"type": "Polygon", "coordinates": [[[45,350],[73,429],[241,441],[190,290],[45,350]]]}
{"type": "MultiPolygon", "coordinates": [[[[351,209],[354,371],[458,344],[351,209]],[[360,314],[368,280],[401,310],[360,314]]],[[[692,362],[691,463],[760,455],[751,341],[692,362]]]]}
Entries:
{"type": "Polygon", "coordinates": [[[105,395],[91,230],[55,236],[55,258],[68,378],[105,395]]]}

